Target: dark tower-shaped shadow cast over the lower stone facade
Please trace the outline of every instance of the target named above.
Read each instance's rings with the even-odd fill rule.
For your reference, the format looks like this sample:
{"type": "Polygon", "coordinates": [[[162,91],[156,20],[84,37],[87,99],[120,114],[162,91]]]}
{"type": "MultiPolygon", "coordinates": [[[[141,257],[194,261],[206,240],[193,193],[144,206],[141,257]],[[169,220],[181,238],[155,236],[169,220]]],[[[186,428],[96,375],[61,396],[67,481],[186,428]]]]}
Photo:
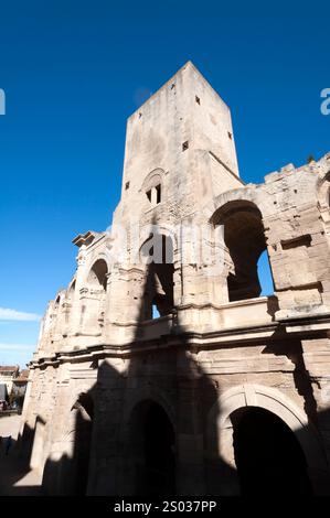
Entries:
{"type": "MultiPolygon", "coordinates": [[[[104,361],[95,386],[82,392],[71,409],[75,427],[67,439],[70,454],[46,460],[43,492],[149,497],[301,496],[315,489],[327,494],[323,452],[322,467],[315,470],[313,453],[308,461],[301,446],[309,434],[320,442],[313,432],[318,416],[299,344],[281,348],[276,342],[264,353],[294,360],[294,379],[311,430],[294,433],[275,413],[253,404],[235,409],[222,422],[221,376],[206,375],[196,361],[198,347],[191,346],[192,334],[181,325],[172,301],[172,269],[148,266],[132,343],[120,357],[99,355],[104,361]],[[162,315],[158,319],[162,336],[146,339],[146,315],[152,314],[155,303],[162,315]]],[[[330,419],[328,411],[322,419],[330,419]]],[[[33,451],[33,433],[24,431],[25,457],[33,451]]],[[[318,456],[322,447],[316,447],[318,456]]]]}

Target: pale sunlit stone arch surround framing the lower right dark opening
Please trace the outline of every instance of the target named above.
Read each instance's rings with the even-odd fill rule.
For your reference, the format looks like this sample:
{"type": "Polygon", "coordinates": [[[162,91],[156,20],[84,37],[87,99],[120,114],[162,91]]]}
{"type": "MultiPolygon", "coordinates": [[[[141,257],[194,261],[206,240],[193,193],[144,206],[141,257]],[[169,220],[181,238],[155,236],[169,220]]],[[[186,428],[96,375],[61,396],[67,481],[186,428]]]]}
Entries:
{"type": "Polygon", "coordinates": [[[235,468],[231,414],[244,407],[256,407],[277,416],[295,433],[306,456],[310,481],[317,490],[328,481],[328,463],[317,431],[305,412],[279,390],[260,385],[239,385],[226,390],[213,404],[207,418],[207,454],[214,453],[235,468]],[[221,409],[221,410],[219,410],[221,409]],[[215,449],[215,452],[214,452],[215,449]],[[321,484],[322,485],[322,484],[321,484]]]}

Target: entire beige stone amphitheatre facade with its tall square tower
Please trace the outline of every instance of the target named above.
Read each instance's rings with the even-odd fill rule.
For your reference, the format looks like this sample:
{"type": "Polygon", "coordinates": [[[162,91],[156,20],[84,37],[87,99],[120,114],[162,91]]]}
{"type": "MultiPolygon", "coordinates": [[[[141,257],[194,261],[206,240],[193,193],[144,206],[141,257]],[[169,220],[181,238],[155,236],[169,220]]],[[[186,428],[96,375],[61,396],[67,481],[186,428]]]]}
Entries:
{"type": "Polygon", "coordinates": [[[113,227],[74,239],[30,364],[45,492],[329,493],[329,180],[327,154],[245,185],[191,62],[128,119],[113,227]]]}

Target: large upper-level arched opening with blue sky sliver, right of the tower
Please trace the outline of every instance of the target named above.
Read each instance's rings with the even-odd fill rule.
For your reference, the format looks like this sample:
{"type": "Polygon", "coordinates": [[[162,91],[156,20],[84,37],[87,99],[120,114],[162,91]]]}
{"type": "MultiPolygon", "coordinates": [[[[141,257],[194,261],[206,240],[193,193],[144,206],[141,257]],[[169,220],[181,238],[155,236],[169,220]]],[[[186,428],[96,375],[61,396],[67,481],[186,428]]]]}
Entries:
{"type": "Polygon", "coordinates": [[[228,202],[215,213],[213,223],[224,226],[230,302],[259,296],[264,284],[267,294],[274,293],[265,230],[256,205],[246,201],[228,202]]]}

